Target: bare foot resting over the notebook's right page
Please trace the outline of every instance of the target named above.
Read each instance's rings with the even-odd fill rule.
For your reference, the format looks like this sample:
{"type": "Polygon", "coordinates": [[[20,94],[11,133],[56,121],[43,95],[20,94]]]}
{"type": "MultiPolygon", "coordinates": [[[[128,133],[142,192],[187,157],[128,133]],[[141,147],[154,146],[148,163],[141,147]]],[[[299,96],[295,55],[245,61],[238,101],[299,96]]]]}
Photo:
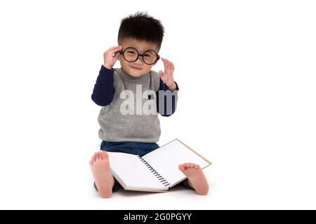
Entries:
{"type": "Polygon", "coordinates": [[[207,195],[209,192],[209,183],[207,183],[207,180],[199,165],[187,162],[180,164],[179,169],[181,172],[183,172],[183,174],[185,174],[185,176],[187,176],[187,182],[199,195],[207,195]]]}

